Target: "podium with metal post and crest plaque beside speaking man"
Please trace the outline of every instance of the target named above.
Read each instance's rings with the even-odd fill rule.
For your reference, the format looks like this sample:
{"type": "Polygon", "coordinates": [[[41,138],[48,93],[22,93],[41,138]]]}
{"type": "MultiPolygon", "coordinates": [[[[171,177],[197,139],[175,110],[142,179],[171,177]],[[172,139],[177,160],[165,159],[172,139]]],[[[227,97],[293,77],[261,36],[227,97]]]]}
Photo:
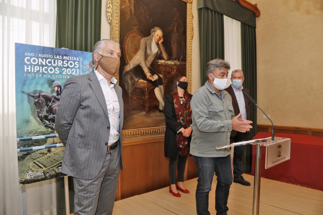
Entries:
{"type": "Polygon", "coordinates": [[[253,215],[259,214],[260,200],[260,176],[261,176],[261,150],[266,147],[266,163],[265,168],[276,166],[290,159],[290,139],[283,137],[268,137],[264,139],[256,139],[233,143],[230,145],[216,146],[216,149],[229,148],[237,145],[255,145],[255,180],[254,180],[254,201],[253,215]],[[274,141],[272,141],[274,139],[274,141]]]}

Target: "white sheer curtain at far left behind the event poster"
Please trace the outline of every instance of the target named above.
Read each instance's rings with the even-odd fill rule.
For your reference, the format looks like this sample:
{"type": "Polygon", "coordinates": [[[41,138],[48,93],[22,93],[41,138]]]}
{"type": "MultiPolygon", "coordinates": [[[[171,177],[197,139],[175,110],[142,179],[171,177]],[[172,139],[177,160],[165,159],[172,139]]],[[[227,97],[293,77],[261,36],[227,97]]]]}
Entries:
{"type": "Polygon", "coordinates": [[[55,0],[0,0],[0,214],[56,214],[55,179],[19,186],[15,43],[55,47],[55,0]]]}

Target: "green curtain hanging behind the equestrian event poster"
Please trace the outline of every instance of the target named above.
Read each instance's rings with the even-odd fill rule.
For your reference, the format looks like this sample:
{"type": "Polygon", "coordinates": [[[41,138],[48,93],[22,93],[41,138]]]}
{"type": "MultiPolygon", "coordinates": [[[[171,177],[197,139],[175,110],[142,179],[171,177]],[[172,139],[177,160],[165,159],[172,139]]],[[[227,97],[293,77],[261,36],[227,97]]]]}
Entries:
{"type": "MultiPolygon", "coordinates": [[[[101,39],[102,0],[57,0],[56,48],[92,52],[101,39]]],[[[70,213],[74,212],[73,178],[68,177],[70,213]]],[[[57,214],[65,214],[64,177],[56,179],[57,214]]]]}

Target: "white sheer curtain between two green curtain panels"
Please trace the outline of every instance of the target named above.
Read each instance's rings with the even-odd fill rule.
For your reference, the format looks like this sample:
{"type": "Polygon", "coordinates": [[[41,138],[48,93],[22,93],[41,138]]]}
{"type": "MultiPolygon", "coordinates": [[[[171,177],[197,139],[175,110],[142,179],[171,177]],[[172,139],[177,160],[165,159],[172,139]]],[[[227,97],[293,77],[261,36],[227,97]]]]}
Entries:
{"type": "Polygon", "coordinates": [[[241,70],[241,23],[237,20],[224,17],[224,60],[229,61],[231,70],[228,74],[228,87],[231,84],[231,72],[241,70]]]}

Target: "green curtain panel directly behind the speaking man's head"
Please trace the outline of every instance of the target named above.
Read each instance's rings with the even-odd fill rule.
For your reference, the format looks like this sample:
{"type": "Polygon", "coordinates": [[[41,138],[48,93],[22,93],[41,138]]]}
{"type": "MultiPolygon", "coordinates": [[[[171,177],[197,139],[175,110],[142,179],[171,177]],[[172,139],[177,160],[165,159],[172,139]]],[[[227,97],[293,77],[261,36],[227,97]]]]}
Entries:
{"type": "Polygon", "coordinates": [[[224,59],[223,15],[209,8],[198,9],[200,36],[200,75],[201,85],[206,81],[205,67],[213,59],[224,59]]]}

